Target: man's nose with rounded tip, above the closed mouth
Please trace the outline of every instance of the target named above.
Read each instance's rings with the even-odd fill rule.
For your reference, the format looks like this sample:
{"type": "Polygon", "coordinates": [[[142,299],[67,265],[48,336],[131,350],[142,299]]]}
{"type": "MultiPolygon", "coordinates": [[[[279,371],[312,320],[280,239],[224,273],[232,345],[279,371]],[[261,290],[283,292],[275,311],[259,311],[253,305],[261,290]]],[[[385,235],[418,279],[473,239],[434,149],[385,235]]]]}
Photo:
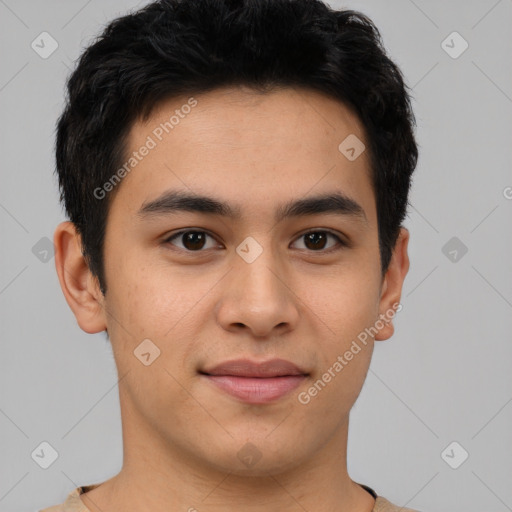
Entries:
{"type": "Polygon", "coordinates": [[[217,304],[219,325],[231,332],[249,330],[258,338],[295,329],[300,301],[289,276],[271,250],[264,250],[252,263],[237,255],[217,304]]]}

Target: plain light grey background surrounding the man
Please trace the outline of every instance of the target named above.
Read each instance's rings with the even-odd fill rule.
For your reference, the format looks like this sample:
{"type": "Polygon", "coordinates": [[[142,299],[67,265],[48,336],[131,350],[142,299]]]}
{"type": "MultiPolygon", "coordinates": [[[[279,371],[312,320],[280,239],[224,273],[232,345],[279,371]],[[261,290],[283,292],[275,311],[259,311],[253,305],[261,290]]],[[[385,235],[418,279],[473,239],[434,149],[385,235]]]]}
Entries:
{"type": "MultiPolygon", "coordinates": [[[[110,345],[78,328],[44,238],[64,220],[52,173],[65,78],[106,21],[145,3],[0,0],[1,511],[61,503],[121,467],[110,345]],[[43,31],[59,45],[47,59],[31,48],[43,31]],[[31,457],[43,441],[58,452],[48,469],[31,457]]],[[[512,510],[512,2],[330,3],[381,30],[413,87],[421,151],[403,310],[351,414],[350,474],[424,512],[512,510]],[[453,31],[469,44],[458,58],[441,46],[453,31]]]]}

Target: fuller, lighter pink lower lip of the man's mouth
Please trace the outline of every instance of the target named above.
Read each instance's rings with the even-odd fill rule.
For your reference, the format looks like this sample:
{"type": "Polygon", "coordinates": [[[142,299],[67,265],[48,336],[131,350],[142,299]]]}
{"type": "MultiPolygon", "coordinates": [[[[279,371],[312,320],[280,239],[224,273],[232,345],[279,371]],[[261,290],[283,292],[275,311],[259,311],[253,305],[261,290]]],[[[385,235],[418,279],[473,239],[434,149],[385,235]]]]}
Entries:
{"type": "Polygon", "coordinates": [[[306,378],[305,375],[284,377],[235,377],[233,375],[204,375],[226,393],[250,404],[266,404],[285,396],[306,378]]]}

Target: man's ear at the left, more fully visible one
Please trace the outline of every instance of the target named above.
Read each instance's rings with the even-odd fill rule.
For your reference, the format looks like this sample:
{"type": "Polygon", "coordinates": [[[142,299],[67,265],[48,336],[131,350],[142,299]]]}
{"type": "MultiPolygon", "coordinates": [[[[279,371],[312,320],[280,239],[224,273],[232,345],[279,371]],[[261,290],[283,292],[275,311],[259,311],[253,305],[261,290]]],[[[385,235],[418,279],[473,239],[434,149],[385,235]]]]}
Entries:
{"type": "Polygon", "coordinates": [[[104,331],[104,297],[81,250],[81,237],[72,222],[62,222],[53,236],[55,267],[66,302],[80,328],[94,334],[104,331]]]}

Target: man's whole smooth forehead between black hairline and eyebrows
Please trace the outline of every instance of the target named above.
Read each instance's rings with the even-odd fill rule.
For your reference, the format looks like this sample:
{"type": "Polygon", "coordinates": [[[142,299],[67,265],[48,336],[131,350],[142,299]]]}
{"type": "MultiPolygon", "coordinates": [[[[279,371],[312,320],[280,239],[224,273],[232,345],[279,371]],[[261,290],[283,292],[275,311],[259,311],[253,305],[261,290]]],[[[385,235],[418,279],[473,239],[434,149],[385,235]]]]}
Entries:
{"type": "Polygon", "coordinates": [[[118,192],[133,211],[165,190],[180,189],[236,195],[237,204],[256,213],[277,198],[283,203],[336,189],[357,197],[371,217],[369,155],[349,160],[340,149],[347,137],[367,146],[357,115],[316,91],[227,87],[175,97],[132,126],[127,161],[151,149],[139,155],[118,192]]]}

